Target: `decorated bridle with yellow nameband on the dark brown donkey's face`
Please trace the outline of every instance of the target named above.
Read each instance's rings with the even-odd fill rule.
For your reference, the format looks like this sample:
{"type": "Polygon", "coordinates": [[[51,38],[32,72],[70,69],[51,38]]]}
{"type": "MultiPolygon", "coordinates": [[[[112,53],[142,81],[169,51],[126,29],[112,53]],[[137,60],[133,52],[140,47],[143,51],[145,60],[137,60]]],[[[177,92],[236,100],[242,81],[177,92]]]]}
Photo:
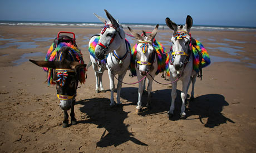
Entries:
{"type": "Polygon", "coordinates": [[[57,72],[57,77],[58,79],[56,80],[57,82],[59,82],[60,86],[64,86],[65,82],[66,82],[66,78],[68,77],[68,73],[75,73],[76,75],[76,81],[75,81],[75,93],[73,95],[61,95],[58,94],[58,90],[57,90],[57,98],[60,100],[70,100],[75,98],[76,96],[76,89],[77,89],[77,84],[78,84],[78,75],[76,73],[75,69],[55,69],[55,72],[57,72]]]}

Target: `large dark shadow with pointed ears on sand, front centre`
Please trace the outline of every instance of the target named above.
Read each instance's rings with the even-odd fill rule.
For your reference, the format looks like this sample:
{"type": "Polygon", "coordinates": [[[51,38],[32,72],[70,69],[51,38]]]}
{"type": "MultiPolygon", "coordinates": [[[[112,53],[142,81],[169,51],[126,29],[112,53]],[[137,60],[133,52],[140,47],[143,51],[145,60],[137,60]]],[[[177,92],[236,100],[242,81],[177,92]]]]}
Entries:
{"type": "Polygon", "coordinates": [[[80,108],[82,113],[88,116],[87,120],[80,120],[82,124],[96,124],[97,128],[105,128],[101,139],[97,142],[99,147],[118,146],[127,141],[132,141],[137,145],[147,146],[144,142],[133,137],[132,132],[127,128],[129,125],[124,124],[124,120],[130,112],[123,110],[124,105],[111,108],[108,98],[92,98],[77,101],[76,104],[84,105],[80,108]]]}

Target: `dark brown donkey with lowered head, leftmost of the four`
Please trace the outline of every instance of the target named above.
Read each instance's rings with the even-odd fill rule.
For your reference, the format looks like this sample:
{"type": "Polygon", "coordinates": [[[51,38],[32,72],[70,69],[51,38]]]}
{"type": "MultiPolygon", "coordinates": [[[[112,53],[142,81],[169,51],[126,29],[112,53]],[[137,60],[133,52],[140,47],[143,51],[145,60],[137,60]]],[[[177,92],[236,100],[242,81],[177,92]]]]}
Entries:
{"type": "MultiPolygon", "coordinates": [[[[78,85],[78,80],[80,83],[85,81],[85,78],[81,78],[81,73],[86,68],[86,64],[81,64],[77,61],[72,61],[71,58],[76,57],[76,55],[72,55],[70,52],[70,47],[62,47],[58,50],[58,57],[60,57],[57,61],[45,61],[45,60],[31,60],[30,62],[38,65],[39,67],[48,68],[48,70],[54,69],[51,76],[52,81],[56,84],[57,89],[57,97],[60,99],[60,107],[64,111],[64,120],[62,122],[62,127],[68,126],[68,113],[67,110],[71,108],[71,124],[76,124],[76,118],[74,113],[74,105],[76,102],[76,89],[78,85]]],[[[80,57],[82,58],[82,57],[80,57]]],[[[77,60],[77,58],[75,58],[77,60]]],[[[83,63],[83,62],[82,62],[83,63]]],[[[83,74],[84,77],[84,74],[83,74]]]]}

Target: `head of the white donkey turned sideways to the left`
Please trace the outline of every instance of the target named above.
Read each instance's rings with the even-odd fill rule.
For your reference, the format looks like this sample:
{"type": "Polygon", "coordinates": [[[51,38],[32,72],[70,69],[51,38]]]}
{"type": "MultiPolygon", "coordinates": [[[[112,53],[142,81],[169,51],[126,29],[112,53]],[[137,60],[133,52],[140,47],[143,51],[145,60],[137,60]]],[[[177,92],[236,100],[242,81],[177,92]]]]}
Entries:
{"type": "Polygon", "coordinates": [[[109,18],[109,21],[95,14],[95,16],[105,24],[100,33],[100,40],[95,48],[95,55],[98,59],[104,59],[107,54],[113,50],[119,49],[121,41],[125,41],[125,32],[122,29],[122,26],[109,12],[106,11],[106,9],[104,9],[104,11],[106,12],[107,18],[109,18]]]}

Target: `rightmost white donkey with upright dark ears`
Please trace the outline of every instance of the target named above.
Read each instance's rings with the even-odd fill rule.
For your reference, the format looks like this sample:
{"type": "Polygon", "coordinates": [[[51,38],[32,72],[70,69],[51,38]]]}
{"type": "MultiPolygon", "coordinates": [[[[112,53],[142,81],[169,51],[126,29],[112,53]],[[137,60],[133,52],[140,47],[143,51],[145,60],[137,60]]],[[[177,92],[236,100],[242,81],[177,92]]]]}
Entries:
{"type": "Polygon", "coordinates": [[[165,19],[169,28],[174,30],[171,42],[173,43],[173,52],[171,53],[171,60],[169,64],[170,80],[174,82],[171,89],[171,107],[168,111],[169,118],[173,116],[174,103],[176,98],[177,80],[183,82],[181,91],[181,118],[185,118],[185,100],[188,93],[189,85],[192,80],[193,86],[191,91],[191,98],[194,98],[194,85],[197,73],[193,70],[193,56],[191,55],[191,35],[190,28],[193,25],[193,19],[190,16],[186,18],[185,25],[177,25],[169,18],[165,19]]]}

